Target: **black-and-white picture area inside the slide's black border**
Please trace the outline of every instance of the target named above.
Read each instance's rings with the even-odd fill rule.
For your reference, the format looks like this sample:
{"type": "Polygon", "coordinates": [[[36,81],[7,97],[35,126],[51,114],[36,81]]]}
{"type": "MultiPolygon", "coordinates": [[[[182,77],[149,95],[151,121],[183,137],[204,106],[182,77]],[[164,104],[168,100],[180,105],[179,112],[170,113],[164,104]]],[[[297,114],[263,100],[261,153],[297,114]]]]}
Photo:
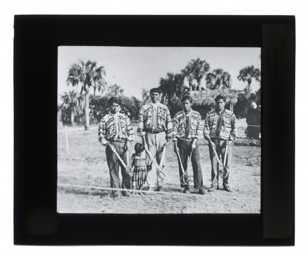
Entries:
{"type": "Polygon", "coordinates": [[[58,47],[57,211],[260,214],[261,48],[58,47]]]}

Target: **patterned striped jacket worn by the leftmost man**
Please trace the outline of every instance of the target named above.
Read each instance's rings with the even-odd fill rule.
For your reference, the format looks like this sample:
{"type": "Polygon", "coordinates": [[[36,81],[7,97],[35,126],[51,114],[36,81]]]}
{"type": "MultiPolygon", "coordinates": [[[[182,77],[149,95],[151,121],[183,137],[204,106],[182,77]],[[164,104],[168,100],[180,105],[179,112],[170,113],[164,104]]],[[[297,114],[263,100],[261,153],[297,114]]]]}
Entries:
{"type": "Polygon", "coordinates": [[[109,114],[105,115],[100,120],[98,126],[99,142],[105,146],[109,144],[109,141],[112,139],[134,140],[133,126],[131,126],[131,122],[127,115],[122,113],[112,114],[109,112],[109,114]]]}

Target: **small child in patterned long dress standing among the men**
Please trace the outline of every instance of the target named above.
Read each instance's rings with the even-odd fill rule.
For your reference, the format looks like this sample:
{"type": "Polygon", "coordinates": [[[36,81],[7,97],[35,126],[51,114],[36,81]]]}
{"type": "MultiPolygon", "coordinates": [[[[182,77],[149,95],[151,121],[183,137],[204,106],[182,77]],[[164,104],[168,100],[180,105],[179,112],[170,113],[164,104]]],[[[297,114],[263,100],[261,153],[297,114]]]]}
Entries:
{"type": "Polygon", "coordinates": [[[143,195],[141,190],[146,182],[147,172],[151,168],[151,161],[145,153],[142,143],[135,145],[135,153],[131,156],[131,166],[133,166],[133,189],[135,190],[138,187],[140,190],[138,194],[143,195]]]}

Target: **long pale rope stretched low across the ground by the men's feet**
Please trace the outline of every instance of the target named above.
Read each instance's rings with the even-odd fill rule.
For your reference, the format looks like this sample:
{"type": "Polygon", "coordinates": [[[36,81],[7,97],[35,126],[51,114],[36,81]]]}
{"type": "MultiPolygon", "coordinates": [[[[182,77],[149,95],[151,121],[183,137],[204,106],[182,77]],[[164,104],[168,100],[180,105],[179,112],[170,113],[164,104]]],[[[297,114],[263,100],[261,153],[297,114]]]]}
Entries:
{"type": "MultiPolygon", "coordinates": [[[[71,185],[71,184],[63,184],[63,183],[59,183],[57,184],[58,187],[62,186],[62,187],[79,187],[79,188],[94,188],[94,189],[104,189],[104,190],[119,190],[119,191],[133,191],[135,193],[138,193],[140,190],[136,189],[124,189],[124,188],[111,188],[111,187],[100,187],[100,186],[81,186],[81,185],[71,185]]],[[[149,191],[149,190],[141,190],[142,193],[148,193],[148,194],[164,194],[164,195],[172,195],[172,196],[187,196],[187,197],[204,197],[206,195],[211,195],[215,198],[224,198],[224,199],[243,199],[243,200],[260,200],[259,198],[252,198],[252,197],[232,197],[231,193],[230,196],[226,196],[226,195],[218,195],[217,191],[215,192],[215,194],[206,194],[206,195],[200,195],[199,193],[193,193],[193,194],[184,194],[184,193],[179,193],[179,192],[166,192],[166,191],[149,191]]]]}

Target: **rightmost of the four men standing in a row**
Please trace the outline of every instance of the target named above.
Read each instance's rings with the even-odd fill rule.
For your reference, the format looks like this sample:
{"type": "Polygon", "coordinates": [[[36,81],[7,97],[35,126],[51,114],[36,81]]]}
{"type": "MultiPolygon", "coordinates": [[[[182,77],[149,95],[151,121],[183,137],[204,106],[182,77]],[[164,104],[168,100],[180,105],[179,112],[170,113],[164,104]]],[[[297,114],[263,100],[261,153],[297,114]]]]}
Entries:
{"type": "MultiPolygon", "coordinates": [[[[215,98],[215,109],[208,112],[204,123],[204,138],[209,142],[210,159],[212,164],[211,176],[212,186],[208,191],[218,189],[219,164],[216,159],[213,147],[215,147],[218,157],[222,156],[222,162],[227,154],[226,167],[229,170],[232,160],[233,142],[237,135],[236,119],[233,112],[225,109],[226,97],[218,95],[215,98]],[[226,145],[228,150],[226,153],[226,145]]],[[[223,187],[226,191],[231,191],[229,187],[229,175],[223,178],[223,187]]]]}

